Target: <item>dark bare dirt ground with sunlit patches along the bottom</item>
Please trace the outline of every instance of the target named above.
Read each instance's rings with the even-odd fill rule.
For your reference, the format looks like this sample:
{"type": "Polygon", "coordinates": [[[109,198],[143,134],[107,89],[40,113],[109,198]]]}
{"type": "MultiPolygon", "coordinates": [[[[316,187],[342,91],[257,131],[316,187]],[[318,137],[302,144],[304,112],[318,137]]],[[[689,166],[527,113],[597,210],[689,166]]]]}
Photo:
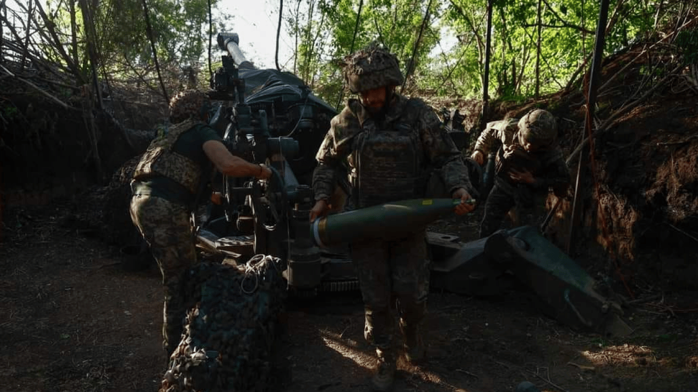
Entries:
{"type": "MultiPolygon", "coordinates": [[[[0,390],[157,391],[165,370],[159,272],[124,271],[119,249],[66,211],[3,211],[0,390]]],[[[698,391],[696,299],[646,287],[627,309],[632,335],[604,338],[544,317],[526,292],[433,292],[429,363],[401,363],[395,390],[505,392],[529,380],[557,392],[698,391]]],[[[368,389],[374,356],[362,335],[357,292],[290,301],[279,342],[283,390],[368,389]]]]}

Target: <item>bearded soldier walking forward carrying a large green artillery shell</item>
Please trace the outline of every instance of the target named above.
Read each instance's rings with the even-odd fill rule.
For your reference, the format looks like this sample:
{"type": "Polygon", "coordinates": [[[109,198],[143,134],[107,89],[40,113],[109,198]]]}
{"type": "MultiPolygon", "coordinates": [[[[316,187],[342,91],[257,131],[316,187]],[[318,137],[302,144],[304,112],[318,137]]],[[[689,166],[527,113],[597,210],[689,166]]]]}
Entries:
{"type": "MultiPolygon", "coordinates": [[[[395,92],[403,82],[396,56],[369,45],[345,57],[343,75],[359,99],[348,100],[320,145],[313,172],[311,222],[332,207],[330,200],[345,167],[356,208],[424,197],[427,167],[438,167],[448,195],[461,199],[454,211],[472,211],[475,206],[470,199],[475,191],[440,119],[422,100],[395,92]]],[[[410,229],[399,239],[363,238],[350,243],[364,299],[364,337],[378,354],[371,379],[376,391],[387,391],[394,382],[393,296],[406,359],[416,363],[425,354],[419,330],[429,292],[426,228],[410,229]]]]}

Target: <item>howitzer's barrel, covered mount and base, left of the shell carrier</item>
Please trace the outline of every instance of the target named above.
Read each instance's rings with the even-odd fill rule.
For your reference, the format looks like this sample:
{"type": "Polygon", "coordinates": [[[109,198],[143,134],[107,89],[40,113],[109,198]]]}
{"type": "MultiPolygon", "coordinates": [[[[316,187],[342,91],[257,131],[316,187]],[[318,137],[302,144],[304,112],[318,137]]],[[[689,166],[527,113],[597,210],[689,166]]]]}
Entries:
{"type": "Polygon", "coordinates": [[[311,179],[333,107],[295,75],[258,69],[237,46],[235,33],[219,33],[222,67],[211,78],[212,99],[222,103],[211,126],[232,153],[265,163],[267,181],[223,177],[223,208],[211,206],[198,231],[205,250],[242,260],[258,254],[285,261],[292,292],[357,287],[346,252],[322,252],[310,238],[311,179]]]}

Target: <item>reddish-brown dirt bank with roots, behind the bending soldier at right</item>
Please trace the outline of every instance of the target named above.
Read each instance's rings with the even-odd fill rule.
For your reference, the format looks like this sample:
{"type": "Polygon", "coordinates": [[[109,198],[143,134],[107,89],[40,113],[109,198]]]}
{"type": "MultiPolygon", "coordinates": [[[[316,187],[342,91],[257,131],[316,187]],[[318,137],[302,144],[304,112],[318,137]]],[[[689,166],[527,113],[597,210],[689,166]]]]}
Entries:
{"type": "MultiPolygon", "coordinates": [[[[583,170],[584,209],[574,243],[577,250],[600,250],[595,269],[636,285],[698,288],[694,98],[658,96],[595,138],[595,163],[583,170]]],[[[567,241],[571,209],[563,203],[552,224],[560,245],[567,241]]]]}

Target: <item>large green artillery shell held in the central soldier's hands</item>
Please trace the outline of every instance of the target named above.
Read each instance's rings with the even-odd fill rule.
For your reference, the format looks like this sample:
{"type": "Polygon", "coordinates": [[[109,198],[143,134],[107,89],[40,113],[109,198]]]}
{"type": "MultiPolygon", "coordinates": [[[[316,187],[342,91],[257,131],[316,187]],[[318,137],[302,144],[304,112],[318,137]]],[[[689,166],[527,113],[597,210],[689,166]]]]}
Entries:
{"type": "Polygon", "coordinates": [[[399,238],[452,212],[460,202],[460,199],[409,199],[337,213],[316,219],[311,225],[311,237],[322,248],[362,237],[399,238]]]}

